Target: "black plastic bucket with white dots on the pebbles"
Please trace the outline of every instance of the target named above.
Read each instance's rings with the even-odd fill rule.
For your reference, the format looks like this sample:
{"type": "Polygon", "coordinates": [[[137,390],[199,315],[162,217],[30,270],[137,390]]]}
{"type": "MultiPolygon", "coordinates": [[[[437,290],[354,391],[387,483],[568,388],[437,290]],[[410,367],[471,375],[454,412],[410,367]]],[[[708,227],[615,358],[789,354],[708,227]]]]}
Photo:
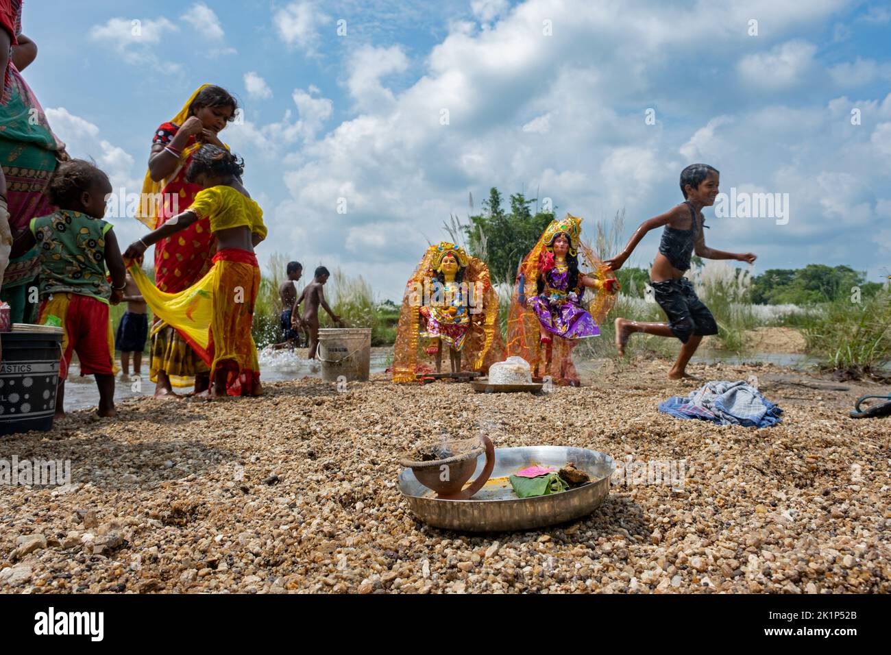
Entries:
{"type": "MultiPolygon", "coordinates": [[[[24,327],[24,326],[22,326],[24,327]]],[[[61,329],[16,327],[0,334],[0,435],[51,430],[59,384],[61,329]]]]}

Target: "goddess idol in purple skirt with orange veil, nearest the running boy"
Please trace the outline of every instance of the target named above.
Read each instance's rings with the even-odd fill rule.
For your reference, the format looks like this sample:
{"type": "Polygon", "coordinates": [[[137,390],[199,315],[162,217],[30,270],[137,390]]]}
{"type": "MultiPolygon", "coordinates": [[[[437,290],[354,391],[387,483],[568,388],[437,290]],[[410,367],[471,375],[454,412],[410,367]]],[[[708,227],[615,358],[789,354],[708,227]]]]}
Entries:
{"type": "Polygon", "coordinates": [[[552,221],[519,266],[508,320],[508,355],[521,356],[538,377],[544,351],[544,375],[557,384],[578,385],[571,352],[578,340],[596,337],[597,323],[609,312],[618,291],[615,275],[581,241],[582,219],[567,214],[552,221]],[[578,269],[582,255],[593,273],[578,269]],[[594,292],[585,303],[584,292],[594,292]],[[552,372],[554,347],[560,364],[552,372]]]}

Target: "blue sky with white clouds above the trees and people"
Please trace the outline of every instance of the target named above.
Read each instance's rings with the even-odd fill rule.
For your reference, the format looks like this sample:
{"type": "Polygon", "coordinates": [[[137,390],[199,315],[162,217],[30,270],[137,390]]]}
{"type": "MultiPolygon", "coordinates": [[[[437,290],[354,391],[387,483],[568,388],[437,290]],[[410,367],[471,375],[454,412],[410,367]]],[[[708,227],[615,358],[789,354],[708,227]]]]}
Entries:
{"type": "MultiPolygon", "coordinates": [[[[154,129],[225,86],[273,253],[396,299],[450,214],[491,186],[626,233],[689,163],[789,216],[715,217],[753,273],[891,268],[891,6],[856,0],[43,0],[25,76],[74,156],[138,192],[154,129]],[[782,196],[781,196],[782,197],[782,196]],[[345,213],[344,209],[346,210],[345,213]]],[[[740,195],[741,197],[741,195],[740,195]]],[[[112,218],[119,240],[143,231],[112,218]]],[[[647,266],[651,234],[633,264],[647,266]]]]}

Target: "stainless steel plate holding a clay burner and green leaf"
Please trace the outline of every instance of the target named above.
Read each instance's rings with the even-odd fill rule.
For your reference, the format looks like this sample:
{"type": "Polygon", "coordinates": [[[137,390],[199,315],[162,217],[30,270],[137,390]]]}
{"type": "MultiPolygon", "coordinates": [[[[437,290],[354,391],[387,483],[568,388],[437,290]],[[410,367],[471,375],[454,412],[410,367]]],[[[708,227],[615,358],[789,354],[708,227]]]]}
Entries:
{"type": "MultiPolygon", "coordinates": [[[[478,458],[476,479],[485,466],[478,458]]],[[[441,500],[421,485],[411,469],[399,474],[399,489],[419,519],[437,528],[463,532],[524,530],[563,523],[594,511],[609,494],[616,464],[609,454],[565,446],[495,448],[495,470],[470,500],[441,500]],[[559,494],[518,498],[508,477],[527,466],[563,466],[574,462],[594,480],[559,494]]]]}

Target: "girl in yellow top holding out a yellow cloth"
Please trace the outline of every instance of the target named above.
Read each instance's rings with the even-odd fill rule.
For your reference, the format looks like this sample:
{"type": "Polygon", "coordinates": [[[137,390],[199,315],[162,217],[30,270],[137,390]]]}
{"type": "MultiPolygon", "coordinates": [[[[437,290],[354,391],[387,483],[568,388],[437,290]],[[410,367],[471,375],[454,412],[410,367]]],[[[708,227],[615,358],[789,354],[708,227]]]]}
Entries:
{"type": "Polygon", "coordinates": [[[243,170],[243,161],[230,152],[216,145],[201,146],[186,171],[188,181],[203,187],[192,205],[124,252],[128,270],[151,310],[210,366],[214,397],[259,396],[263,391],[250,327],[260,285],[254,248],[266,239],[266,226],[263,210],[241,185],[243,170]],[[201,218],[209,218],[210,231],[217,237],[213,267],[184,291],[159,291],[140,266],[143,253],[201,218]]]}

